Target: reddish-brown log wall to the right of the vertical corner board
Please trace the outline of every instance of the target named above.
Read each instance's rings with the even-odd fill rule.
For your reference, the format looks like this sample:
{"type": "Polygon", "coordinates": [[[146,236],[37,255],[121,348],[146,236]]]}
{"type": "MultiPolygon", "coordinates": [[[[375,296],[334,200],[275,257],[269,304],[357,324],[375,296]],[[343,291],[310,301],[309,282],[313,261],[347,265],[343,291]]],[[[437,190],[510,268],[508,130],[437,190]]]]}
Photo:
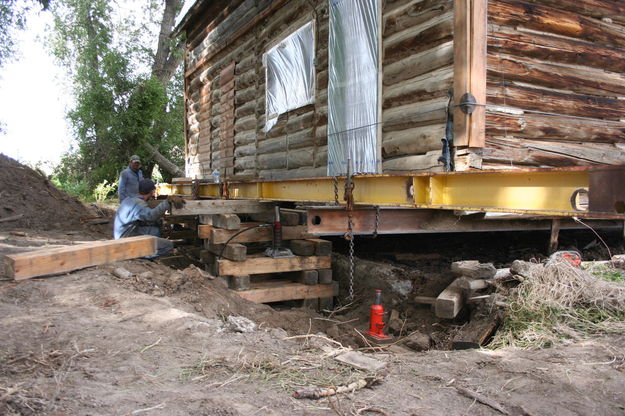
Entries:
{"type": "Polygon", "coordinates": [[[625,163],[625,3],[490,0],[483,168],[625,163]]]}

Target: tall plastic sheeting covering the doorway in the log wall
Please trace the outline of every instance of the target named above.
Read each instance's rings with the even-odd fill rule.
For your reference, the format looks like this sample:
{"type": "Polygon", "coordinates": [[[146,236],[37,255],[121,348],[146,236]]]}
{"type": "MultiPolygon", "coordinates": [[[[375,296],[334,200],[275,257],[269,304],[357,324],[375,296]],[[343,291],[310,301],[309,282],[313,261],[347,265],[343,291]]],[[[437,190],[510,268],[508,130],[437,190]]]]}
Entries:
{"type": "Polygon", "coordinates": [[[378,0],[330,0],[328,175],[377,173],[378,0]]]}

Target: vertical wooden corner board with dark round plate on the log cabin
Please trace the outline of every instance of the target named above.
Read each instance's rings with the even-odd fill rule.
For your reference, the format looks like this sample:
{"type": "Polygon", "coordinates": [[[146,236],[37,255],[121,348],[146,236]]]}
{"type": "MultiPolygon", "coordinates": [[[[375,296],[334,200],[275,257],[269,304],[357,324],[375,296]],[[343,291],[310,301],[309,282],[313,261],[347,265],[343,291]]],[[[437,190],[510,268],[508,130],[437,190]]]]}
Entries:
{"type": "Polygon", "coordinates": [[[486,108],[465,114],[457,105],[465,93],[486,104],[487,0],[455,0],[454,11],[454,145],[484,147],[486,108]]]}

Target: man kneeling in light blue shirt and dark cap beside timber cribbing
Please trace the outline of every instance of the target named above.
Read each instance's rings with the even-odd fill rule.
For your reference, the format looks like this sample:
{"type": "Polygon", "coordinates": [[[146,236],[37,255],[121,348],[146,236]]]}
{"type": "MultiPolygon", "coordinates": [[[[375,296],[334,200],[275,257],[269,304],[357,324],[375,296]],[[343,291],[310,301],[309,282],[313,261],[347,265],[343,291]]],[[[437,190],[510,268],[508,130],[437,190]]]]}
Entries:
{"type": "Polygon", "coordinates": [[[142,179],[139,182],[139,194],[128,197],[119,205],[115,214],[115,225],[113,235],[115,239],[125,237],[135,237],[138,235],[153,235],[157,237],[156,256],[163,256],[169,253],[174,244],[161,237],[161,229],[158,220],[171,209],[172,205],[182,208],[185,201],[176,196],[169,196],[155,208],[150,208],[147,201],[154,197],[156,186],[150,179],[142,179]]]}

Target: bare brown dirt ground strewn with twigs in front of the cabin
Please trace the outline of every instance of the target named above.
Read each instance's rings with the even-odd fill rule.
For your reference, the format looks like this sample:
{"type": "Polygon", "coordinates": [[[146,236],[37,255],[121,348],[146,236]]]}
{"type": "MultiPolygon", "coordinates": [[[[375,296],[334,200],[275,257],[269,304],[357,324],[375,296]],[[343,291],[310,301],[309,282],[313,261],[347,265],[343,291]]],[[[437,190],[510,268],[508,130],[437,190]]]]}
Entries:
{"type": "MultiPolygon", "coordinates": [[[[63,205],[41,210],[2,200],[0,219],[23,215],[20,222],[0,222],[0,254],[110,237],[110,224],[85,228],[80,218],[84,214],[82,223],[88,222],[94,215],[89,209],[56,189],[47,192],[45,178],[20,171],[27,176],[12,181],[43,186],[36,188],[37,204],[65,201],[77,211],[73,227],[65,229],[55,225],[63,205]]],[[[2,192],[13,191],[0,182],[2,192]]],[[[409,298],[447,284],[449,262],[467,258],[468,245],[456,240],[443,241],[447,249],[436,250],[443,254],[407,256],[390,269],[379,257],[381,246],[394,251],[388,242],[357,240],[360,253],[378,252],[368,256],[376,262],[356,265],[361,302],[332,314],[300,303],[256,305],[194,267],[176,270],[148,260],[23,282],[0,280],[0,414],[625,414],[625,334],[540,350],[447,349],[446,336],[459,323],[437,320],[409,298]],[[374,276],[376,264],[385,270],[382,276],[374,276]],[[117,276],[119,269],[128,277],[117,276]],[[432,336],[437,349],[415,352],[400,343],[372,348],[363,341],[357,330],[366,328],[376,279],[386,284],[389,309],[411,316],[411,329],[432,336]],[[386,367],[374,374],[338,362],[335,356],[347,349],[386,367]],[[367,377],[377,384],[319,400],[293,397],[304,388],[367,377]]],[[[510,259],[510,253],[488,251],[485,244],[469,250],[471,257],[510,259]]],[[[433,252],[414,241],[408,251],[433,252]]],[[[518,258],[526,254],[515,251],[518,258]]],[[[337,255],[333,262],[341,278],[345,259],[337,255]]],[[[343,284],[343,306],[344,291],[343,284]]]]}

